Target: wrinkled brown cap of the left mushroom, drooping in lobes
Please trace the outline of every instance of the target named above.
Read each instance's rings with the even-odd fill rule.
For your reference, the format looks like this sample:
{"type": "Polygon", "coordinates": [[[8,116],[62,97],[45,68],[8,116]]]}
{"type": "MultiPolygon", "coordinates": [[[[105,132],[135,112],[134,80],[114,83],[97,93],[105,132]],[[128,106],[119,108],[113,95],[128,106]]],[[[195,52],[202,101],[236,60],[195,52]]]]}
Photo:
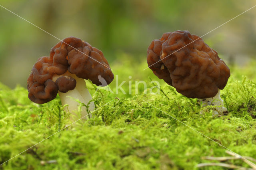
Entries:
{"type": "Polygon", "coordinates": [[[61,77],[53,82],[52,77],[65,72],[76,74],[77,77],[92,81],[99,85],[98,75],[107,84],[114,79],[108,61],[103,53],[88,42],[79,38],[68,37],[58,42],[50,51],[50,57],[41,57],[34,64],[28,77],[28,98],[35,103],[43,104],[53,100],[58,90],[67,92],[74,89],[74,78],[61,77]],[[68,86],[63,86],[63,82],[68,86]]]}

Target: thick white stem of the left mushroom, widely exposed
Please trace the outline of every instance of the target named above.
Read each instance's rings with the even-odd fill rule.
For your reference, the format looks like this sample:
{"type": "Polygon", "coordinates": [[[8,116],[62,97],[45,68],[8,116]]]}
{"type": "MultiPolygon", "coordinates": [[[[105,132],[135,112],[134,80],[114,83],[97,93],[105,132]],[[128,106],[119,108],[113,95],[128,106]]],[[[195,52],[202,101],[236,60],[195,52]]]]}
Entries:
{"type": "MultiPolygon", "coordinates": [[[[52,77],[52,81],[55,82],[57,78],[59,78],[60,76],[71,76],[72,78],[76,79],[76,88],[74,88],[74,90],[69,90],[66,93],[62,93],[58,91],[62,106],[66,104],[68,105],[64,107],[64,111],[70,112],[71,114],[70,120],[78,120],[80,118],[85,120],[88,117],[90,117],[91,114],[87,112],[85,106],[81,107],[81,112],[80,112],[81,117],[78,117],[76,114],[79,111],[78,108],[80,106],[80,103],[77,102],[76,100],[79,100],[81,103],[84,103],[85,105],[87,105],[92,100],[92,96],[88,91],[88,88],[86,87],[86,82],[84,81],[84,79],[78,78],[76,74],[71,74],[70,72],[67,71],[62,75],[57,75],[57,74],[54,75],[52,77]]],[[[91,101],[88,106],[89,106],[88,108],[89,112],[91,112],[95,108],[93,101],[91,101]]]]}

